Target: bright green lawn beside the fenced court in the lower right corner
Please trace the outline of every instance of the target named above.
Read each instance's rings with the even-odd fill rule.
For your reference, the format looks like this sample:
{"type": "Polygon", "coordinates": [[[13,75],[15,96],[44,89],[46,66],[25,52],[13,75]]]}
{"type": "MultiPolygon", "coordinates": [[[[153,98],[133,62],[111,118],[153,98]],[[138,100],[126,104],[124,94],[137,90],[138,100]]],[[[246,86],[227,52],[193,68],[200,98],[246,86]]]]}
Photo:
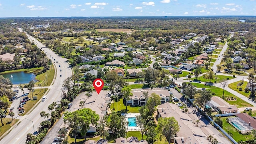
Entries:
{"type": "Polygon", "coordinates": [[[242,141],[246,141],[246,140],[251,140],[253,138],[253,135],[247,135],[247,134],[240,134],[238,132],[238,130],[236,130],[236,128],[234,128],[231,124],[229,124],[226,119],[230,118],[230,117],[221,117],[221,120],[223,122],[223,129],[226,132],[231,132],[233,134],[233,138],[234,140],[236,140],[236,142],[242,140],[242,141]]]}

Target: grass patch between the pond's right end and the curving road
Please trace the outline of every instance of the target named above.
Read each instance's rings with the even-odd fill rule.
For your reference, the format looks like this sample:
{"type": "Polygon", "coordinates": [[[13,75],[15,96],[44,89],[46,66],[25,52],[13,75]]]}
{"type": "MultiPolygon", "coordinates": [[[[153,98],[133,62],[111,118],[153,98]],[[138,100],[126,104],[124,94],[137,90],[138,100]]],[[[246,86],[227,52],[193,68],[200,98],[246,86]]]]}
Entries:
{"type": "Polygon", "coordinates": [[[42,74],[38,74],[36,76],[36,80],[39,81],[39,82],[36,82],[36,86],[38,86],[38,84],[41,84],[42,86],[44,86],[42,82],[45,81],[45,78],[46,78],[45,86],[50,86],[50,84],[52,83],[52,80],[54,79],[54,74],[55,74],[55,69],[54,69],[54,66],[51,65],[50,70],[42,74]],[[47,74],[47,77],[45,77],[46,74],[47,74]]]}

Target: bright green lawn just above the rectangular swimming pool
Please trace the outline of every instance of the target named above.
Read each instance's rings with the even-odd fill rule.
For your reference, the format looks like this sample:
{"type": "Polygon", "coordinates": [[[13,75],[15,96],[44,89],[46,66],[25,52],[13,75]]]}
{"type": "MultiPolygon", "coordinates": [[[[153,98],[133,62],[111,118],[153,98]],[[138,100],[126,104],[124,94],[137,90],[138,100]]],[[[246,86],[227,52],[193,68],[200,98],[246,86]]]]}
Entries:
{"type": "MultiPolygon", "coordinates": [[[[118,100],[117,104],[116,102],[114,102],[114,104],[112,103],[110,106],[110,109],[112,110],[114,106],[114,110],[116,111],[121,111],[121,110],[126,110],[126,105],[123,103],[123,99],[121,98],[120,100],[118,100]],[[116,108],[117,106],[117,108],[116,108]]],[[[139,108],[140,106],[127,106],[127,113],[131,112],[131,113],[139,113],[139,108]]]]}

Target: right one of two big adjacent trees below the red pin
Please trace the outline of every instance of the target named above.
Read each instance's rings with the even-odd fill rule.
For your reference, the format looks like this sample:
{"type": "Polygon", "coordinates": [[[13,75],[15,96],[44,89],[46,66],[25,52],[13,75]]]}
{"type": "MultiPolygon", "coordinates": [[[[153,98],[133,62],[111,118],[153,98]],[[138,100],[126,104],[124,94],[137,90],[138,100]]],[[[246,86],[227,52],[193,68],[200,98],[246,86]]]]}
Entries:
{"type": "Polygon", "coordinates": [[[90,130],[90,124],[97,126],[99,115],[92,111],[90,108],[83,108],[78,110],[78,120],[82,128],[82,134],[84,135],[84,141],[86,141],[86,133],[90,130]]]}

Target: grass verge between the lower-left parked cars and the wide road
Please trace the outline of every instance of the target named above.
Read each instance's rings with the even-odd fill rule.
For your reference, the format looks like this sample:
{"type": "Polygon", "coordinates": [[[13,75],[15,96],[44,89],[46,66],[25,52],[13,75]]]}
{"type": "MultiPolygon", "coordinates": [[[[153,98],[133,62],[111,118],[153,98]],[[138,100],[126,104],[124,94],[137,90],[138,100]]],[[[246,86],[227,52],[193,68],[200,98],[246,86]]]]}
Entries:
{"type": "MultiPolygon", "coordinates": [[[[47,92],[48,88],[45,89],[45,91],[47,92]]],[[[35,89],[35,91],[33,92],[33,96],[37,96],[37,100],[29,100],[26,102],[26,104],[24,104],[24,110],[25,112],[23,114],[21,114],[21,116],[24,116],[44,95],[44,88],[41,87],[41,92],[40,89],[35,89]]],[[[30,98],[30,96],[32,97],[32,93],[30,92],[30,94],[28,95],[28,97],[30,98]]]]}

